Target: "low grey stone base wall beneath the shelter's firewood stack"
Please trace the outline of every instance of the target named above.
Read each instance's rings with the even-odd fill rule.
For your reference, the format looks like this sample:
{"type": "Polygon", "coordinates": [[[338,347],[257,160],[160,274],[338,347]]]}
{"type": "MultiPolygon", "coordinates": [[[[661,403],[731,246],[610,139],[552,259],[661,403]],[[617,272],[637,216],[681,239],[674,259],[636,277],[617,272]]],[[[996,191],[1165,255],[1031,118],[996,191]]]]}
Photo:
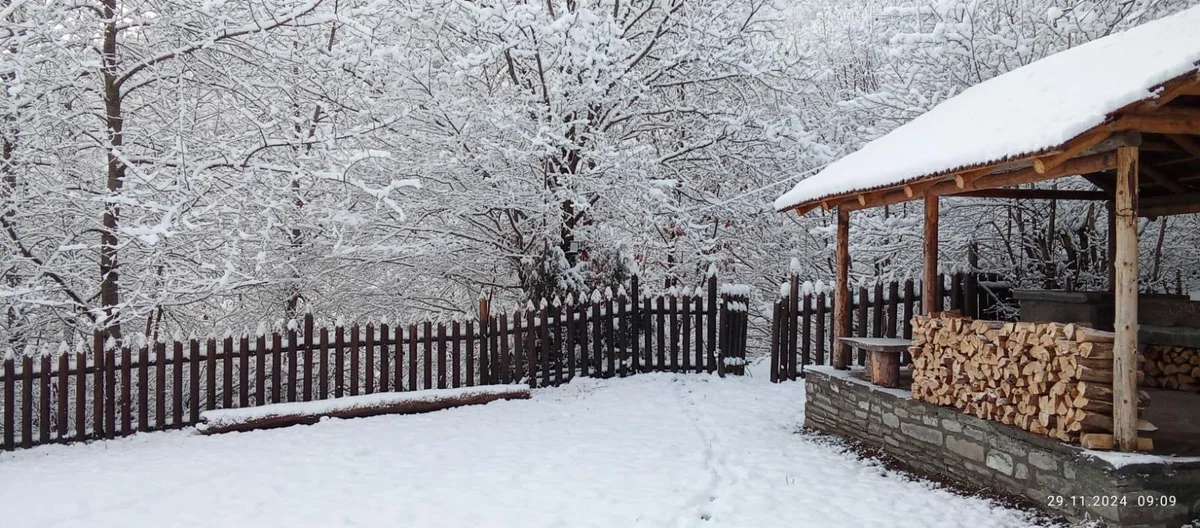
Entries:
{"type": "Polygon", "coordinates": [[[880,448],[918,470],[985,484],[1073,520],[1176,528],[1200,518],[1200,458],[1099,458],[830,367],[810,368],[805,389],[806,427],[880,448]]]}

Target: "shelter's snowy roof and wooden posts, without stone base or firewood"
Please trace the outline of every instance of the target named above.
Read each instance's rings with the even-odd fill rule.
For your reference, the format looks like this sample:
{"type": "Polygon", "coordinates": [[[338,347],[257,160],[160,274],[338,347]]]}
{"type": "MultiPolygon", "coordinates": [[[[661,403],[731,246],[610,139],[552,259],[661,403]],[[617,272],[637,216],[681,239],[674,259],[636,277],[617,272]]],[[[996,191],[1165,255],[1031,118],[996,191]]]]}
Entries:
{"type": "MultiPolygon", "coordinates": [[[[836,211],[834,334],[848,335],[850,214],[924,200],[923,305],[934,311],[941,197],[1103,200],[1115,294],[1114,439],[1138,422],[1139,216],[1200,212],[1200,7],[976,85],[775,200],[836,211]],[[1014,188],[1082,176],[1088,191],[1014,188]]],[[[846,368],[839,346],[834,365],[846,368]]]]}

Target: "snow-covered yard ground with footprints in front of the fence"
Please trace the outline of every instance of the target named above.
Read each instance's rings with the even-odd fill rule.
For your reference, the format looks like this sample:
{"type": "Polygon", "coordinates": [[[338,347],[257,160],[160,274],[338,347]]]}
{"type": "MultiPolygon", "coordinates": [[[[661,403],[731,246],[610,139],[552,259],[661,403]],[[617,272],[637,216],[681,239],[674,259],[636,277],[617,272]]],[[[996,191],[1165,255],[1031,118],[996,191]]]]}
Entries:
{"type": "Polygon", "coordinates": [[[1022,527],[798,434],[803,383],[643,374],[530,401],[0,455],[5,527],[1022,527]]]}

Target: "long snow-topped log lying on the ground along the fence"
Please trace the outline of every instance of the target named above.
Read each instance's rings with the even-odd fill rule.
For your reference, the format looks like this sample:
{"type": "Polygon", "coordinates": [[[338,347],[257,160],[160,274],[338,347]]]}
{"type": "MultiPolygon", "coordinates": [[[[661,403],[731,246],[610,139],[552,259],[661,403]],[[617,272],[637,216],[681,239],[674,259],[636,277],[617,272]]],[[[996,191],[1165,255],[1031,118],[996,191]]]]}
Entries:
{"type": "Polygon", "coordinates": [[[523,385],[480,385],[462,389],[433,389],[415,392],[379,392],[316,402],[274,403],[242,409],[217,409],[200,413],[196,431],[220,434],[293,425],[317,424],[325,416],[365,418],[383,414],[418,414],[463,406],[479,406],[497,400],[529,400],[523,385]]]}

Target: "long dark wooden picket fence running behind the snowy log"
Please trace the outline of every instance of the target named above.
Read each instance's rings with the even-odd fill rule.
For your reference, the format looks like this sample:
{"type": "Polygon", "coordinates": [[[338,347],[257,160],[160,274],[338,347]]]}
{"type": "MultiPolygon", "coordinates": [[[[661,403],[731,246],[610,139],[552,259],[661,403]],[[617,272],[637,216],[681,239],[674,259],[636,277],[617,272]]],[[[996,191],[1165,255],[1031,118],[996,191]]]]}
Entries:
{"type": "Polygon", "coordinates": [[[6,358],[0,448],[180,428],[208,409],[640,372],[740,374],[748,292],[593,296],[473,320],[314,328],[6,358]],[[715,307],[715,310],[714,310],[715,307]],[[18,436],[19,433],[19,436],[18,436]]]}

